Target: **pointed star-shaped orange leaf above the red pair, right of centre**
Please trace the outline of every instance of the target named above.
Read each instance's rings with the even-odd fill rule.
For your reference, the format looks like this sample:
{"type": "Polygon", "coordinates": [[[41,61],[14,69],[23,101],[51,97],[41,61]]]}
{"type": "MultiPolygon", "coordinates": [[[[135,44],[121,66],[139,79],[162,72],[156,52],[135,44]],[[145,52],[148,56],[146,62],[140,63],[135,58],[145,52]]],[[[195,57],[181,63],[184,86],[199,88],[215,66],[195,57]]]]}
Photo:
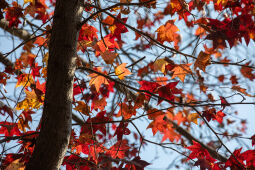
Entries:
{"type": "Polygon", "coordinates": [[[179,77],[179,79],[184,82],[184,79],[185,79],[185,76],[186,74],[191,74],[192,71],[190,70],[190,64],[180,64],[180,65],[176,65],[172,71],[174,72],[173,73],[173,76],[172,76],[172,79],[175,78],[175,77],[179,77]]]}

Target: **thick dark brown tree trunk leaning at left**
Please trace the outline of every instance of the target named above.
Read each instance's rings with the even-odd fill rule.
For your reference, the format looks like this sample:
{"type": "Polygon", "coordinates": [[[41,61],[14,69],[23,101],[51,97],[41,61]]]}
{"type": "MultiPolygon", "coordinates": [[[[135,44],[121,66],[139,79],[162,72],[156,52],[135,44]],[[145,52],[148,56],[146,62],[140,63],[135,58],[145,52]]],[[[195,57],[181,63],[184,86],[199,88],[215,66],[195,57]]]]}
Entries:
{"type": "Polygon", "coordinates": [[[81,14],[79,0],[57,0],[41,132],[27,170],[59,169],[65,156],[71,133],[77,25],[81,14]]]}

